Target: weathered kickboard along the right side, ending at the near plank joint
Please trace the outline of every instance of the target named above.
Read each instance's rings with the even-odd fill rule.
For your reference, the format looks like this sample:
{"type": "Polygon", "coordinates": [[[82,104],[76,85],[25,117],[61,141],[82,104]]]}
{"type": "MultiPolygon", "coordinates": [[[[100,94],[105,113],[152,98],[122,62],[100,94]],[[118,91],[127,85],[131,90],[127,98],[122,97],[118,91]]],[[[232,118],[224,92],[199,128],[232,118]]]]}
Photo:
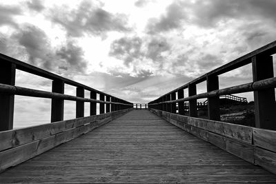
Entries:
{"type": "MultiPolygon", "coordinates": [[[[152,111],[159,114],[156,112],[157,110],[152,111]]],[[[253,145],[251,144],[252,127],[181,116],[179,114],[168,114],[167,112],[162,112],[162,118],[222,150],[254,163],[253,145]]]]}

